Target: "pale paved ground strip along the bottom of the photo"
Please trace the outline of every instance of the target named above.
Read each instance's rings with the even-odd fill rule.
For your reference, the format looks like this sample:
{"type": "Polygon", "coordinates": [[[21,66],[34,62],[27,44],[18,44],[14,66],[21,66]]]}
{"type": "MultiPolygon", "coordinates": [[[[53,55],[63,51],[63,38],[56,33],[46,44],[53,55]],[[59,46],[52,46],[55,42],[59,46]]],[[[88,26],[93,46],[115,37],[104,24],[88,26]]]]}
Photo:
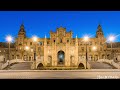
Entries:
{"type": "Polygon", "coordinates": [[[120,70],[0,70],[0,79],[120,79],[120,70]]]}

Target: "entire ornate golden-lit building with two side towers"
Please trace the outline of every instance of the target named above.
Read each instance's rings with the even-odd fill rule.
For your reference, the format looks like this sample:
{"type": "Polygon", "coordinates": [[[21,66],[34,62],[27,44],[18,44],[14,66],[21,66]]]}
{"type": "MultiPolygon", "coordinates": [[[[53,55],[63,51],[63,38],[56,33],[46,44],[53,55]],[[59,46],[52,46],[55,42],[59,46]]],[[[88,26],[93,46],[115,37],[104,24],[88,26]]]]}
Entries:
{"type": "MultiPolygon", "coordinates": [[[[96,61],[98,59],[119,59],[120,43],[116,42],[111,46],[106,43],[106,38],[101,25],[98,25],[96,36],[89,38],[84,42],[83,38],[73,38],[73,32],[66,31],[66,28],[60,27],[56,32],[50,31],[50,38],[38,38],[33,42],[32,38],[26,37],[24,25],[20,26],[15,43],[11,44],[10,60],[20,59],[25,61],[34,61],[36,53],[36,68],[39,64],[45,67],[78,67],[80,63],[85,65],[86,53],[88,60],[96,61]],[[26,50],[25,47],[29,49],[26,50]],[[97,49],[94,51],[93,46],[97,49]],[[87,50],[87,51],[86,51],[87,50]],[[113,53],[112,53],[113,52],[113,53]]],[[[8,59],[8,44],[0,43],[1,59],[8,59]]]]}

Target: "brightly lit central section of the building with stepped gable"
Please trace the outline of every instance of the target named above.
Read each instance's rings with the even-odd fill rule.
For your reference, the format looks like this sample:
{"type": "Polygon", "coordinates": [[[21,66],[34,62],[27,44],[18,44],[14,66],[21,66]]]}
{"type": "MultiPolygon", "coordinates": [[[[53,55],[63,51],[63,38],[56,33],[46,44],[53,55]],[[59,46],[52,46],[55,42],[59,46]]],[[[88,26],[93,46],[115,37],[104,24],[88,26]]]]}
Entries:
{"type": "Polygon", "coordinates": [[[50,66],[77,66],[78,39],[63,27],[50,32],[50,39],[44,41],[44,63],[50,66]]]}

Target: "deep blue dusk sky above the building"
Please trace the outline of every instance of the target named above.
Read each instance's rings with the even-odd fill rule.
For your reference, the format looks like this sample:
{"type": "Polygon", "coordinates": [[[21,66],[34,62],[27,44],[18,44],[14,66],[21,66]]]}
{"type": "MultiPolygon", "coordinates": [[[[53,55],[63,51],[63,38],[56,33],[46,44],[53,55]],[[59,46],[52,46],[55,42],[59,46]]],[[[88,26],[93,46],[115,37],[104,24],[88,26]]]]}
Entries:
{"type": "MultiPolygon", "coordinates": [[[[56,31],[60,26],[72,30],[73,37],[94,37],[98,24],[105,37],[120,34],[119,11],[0,11],[0,42],[6,41],[6,35],[16,37],[22,23],[28,37],[49,37],[50,30],[56,31]]],[[[116,41],[120,41],[120,36],[116,41]]]]}

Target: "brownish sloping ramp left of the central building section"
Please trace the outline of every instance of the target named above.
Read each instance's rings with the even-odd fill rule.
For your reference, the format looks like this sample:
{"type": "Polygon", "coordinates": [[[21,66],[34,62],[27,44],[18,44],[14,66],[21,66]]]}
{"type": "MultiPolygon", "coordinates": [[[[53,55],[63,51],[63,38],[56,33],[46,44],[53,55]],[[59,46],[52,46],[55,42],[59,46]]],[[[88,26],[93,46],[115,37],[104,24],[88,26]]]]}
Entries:
{"type": "Polygon", "coordinates": [[[18,62],[6,67],[5,70],[31,70],[32,62],[18,62]]]}

